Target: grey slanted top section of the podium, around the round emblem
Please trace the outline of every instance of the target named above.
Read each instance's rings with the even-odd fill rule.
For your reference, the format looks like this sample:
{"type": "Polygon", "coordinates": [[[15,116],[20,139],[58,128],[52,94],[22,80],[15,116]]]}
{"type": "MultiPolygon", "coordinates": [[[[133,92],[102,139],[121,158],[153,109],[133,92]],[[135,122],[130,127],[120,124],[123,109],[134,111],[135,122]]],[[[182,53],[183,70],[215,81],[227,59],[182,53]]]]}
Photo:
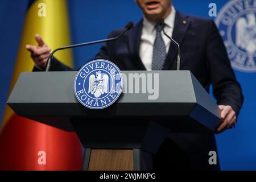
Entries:
{"type": "Polygon", "coordinates": [[[17,114],[34,119],[53,116],[152,119],[188,115],[193,118],[204,113],[220,117],[218,106],[190,71],[122,71],[123,93],[115,104],[102,110],[88,109],[77,101],[73,89],[76,73],[23,72],[7,104],[17,114]],[[200,109],[195,111],[196,107],[200,109]]]}

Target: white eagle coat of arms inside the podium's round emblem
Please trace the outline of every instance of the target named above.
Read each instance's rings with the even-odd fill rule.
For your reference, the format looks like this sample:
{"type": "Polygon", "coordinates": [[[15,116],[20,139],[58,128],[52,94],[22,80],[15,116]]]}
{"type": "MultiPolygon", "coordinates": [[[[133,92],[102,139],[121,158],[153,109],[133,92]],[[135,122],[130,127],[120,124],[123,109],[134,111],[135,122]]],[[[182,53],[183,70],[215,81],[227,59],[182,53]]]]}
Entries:
{"type": "Polygon", "coordinates": [[[96,72],[95,75],[89,77],[89,89],[88,93],[93,94],[96,98],[100,97],[101,94],[109,93],[109,76],[101,76],[101,71],[96,72]]]}

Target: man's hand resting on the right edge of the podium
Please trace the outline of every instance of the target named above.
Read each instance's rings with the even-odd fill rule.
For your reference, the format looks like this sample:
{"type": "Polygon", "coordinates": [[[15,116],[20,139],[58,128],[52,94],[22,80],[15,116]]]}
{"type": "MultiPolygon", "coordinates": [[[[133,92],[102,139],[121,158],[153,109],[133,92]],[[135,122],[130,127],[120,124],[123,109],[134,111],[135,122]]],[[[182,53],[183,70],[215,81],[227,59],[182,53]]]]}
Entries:
{"type": "Polygon", "coordinates": [[[219,105],[218,107],[220,107],[221,119],[223,122],[218,127],[216,131],[217,134],[222,133],[226,129],[232,128],[237,122],[236,112],[232,109],[231,106],[219,105]]]}

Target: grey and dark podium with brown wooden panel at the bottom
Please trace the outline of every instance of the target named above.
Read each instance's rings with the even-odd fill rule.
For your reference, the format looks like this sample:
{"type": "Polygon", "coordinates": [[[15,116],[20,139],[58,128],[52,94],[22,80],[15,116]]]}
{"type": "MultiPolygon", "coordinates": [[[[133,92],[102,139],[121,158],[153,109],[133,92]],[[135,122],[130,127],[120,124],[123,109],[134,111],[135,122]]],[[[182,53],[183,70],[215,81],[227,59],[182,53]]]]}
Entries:
{"type": "Polygon", "coordinates": [[[7,104],[20,116],[75,130],[84,170],[151,170],[168,133],[214,131],[221,123],[218,106],[190,71],[123,71],[123,93],[101,110],[76,100],[76,73],[23,72],[7,104]]]}

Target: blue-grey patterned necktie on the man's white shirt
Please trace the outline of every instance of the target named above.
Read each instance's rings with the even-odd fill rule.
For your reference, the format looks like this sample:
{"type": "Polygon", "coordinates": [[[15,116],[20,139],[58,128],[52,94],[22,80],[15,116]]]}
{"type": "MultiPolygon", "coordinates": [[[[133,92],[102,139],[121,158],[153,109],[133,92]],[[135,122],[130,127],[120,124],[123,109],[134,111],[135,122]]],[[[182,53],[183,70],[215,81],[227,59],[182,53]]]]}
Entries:
{"type": "Polygon", "coordinates": [[[166,45],[164,44],[160,24],[156,24],[156,37],[154,42],[152,70],[162,70],[164,61],[166,60],[166,45]]]}

